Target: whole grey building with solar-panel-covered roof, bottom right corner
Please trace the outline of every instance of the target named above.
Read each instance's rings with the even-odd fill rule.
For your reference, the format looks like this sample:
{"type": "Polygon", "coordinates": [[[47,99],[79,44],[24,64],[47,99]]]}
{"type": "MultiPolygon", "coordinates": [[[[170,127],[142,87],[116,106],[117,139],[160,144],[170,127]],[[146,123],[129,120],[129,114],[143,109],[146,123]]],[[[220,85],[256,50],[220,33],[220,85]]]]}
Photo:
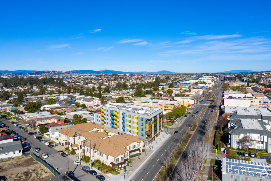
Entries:
{"type": "Polygon", "coordinates": [[[222,181],[270,181],[271,165],[266,160],[244,161],[236,159],[222,159],[222,181]]]}

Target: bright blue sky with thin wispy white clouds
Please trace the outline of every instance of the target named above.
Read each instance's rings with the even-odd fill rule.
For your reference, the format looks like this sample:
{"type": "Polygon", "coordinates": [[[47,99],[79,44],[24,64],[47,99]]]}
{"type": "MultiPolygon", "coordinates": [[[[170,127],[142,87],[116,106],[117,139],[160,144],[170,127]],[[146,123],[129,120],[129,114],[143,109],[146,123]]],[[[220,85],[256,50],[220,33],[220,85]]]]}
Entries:
{"type": "Polygon", "coordinates": [[[271,70],[270,1],[2,1],[0,70],[271,70]]]}

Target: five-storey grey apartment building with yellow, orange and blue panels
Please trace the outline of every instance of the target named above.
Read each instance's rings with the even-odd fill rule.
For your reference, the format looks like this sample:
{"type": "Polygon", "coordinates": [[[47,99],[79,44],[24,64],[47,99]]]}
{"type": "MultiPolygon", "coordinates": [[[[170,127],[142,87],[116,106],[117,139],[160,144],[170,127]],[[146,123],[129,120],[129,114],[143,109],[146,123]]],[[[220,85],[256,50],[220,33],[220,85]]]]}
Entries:
{"type": "Polygon", "coordinates": [[[138,136],[150,143],[162,130],[162,112],[157,107],[110,103],[103,106],[100,114],[94,113],[94,123],[118,135],[138,136]]]}

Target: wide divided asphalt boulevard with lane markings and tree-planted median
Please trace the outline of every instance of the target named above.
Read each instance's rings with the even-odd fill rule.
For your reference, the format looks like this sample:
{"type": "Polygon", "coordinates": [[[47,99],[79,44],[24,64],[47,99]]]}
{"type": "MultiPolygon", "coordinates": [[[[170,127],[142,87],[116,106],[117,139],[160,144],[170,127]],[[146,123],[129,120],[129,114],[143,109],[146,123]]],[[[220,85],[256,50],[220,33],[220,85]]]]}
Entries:
{"type": "Polygon", "coordinates": [[[209,112],[211,112],[211,110],[215,108],[215,106],[211,106],[211,105],[207,106],[207,104],[214,104],[212,100],[208,99],[209,95],[210,94],[207,94],[207,96],[203,97],[202,98],[203,101],[197,104],[192,110],[190,110],[191,114],[188,115],[188,117],[184,119],[184,122],[179,127],[168,128],[168,133],[172,134],[172,136],[151,156],[151,158],[149,158],[149,161],[145,163],[145,165],[142,167],[140,171],[137,172],[137,174],[134,175],[132,180],[138,180],[138,181],[148,180],[149,181],[149,180],[154,180],[156,178],[156,176],[158,175],[159,171],[161,170],[163,166],[163,163],[161,161],[161,159],[163,158],[163,154],[168,149],[168,147],[174,142],[174,139],[177,136],[177,134],[174,134],[174,131],[177,130],[180,132],[182,128],[184,127],[184,125],[186,125],[190,119],[196,119],[198,123],[198,127],[195,133],[192,135],[187,148],[189,147],[189,145],[191,145],[192,143],[202,138],[204,134],[203,127],[204,127],[204,123],[207,118],[207,115],[209,114],[209,112]],[[207,107],[207,109],[202,110],[204,107],[207,107]],[[199,113],[197,113],[196,118],[193,118],[192,115],[196,111],[199,111],[199,113]]]}

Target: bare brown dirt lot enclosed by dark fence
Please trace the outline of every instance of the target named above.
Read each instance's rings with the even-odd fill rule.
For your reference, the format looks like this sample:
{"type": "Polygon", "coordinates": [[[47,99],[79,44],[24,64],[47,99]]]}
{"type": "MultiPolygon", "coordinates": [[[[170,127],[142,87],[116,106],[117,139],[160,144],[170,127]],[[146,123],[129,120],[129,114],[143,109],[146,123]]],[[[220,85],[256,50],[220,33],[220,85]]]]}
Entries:
{"type": "Polygon", "coordinates": [[[54,175],[31,156],[0,163],[0,181],[39,181],[54,175]]]}

